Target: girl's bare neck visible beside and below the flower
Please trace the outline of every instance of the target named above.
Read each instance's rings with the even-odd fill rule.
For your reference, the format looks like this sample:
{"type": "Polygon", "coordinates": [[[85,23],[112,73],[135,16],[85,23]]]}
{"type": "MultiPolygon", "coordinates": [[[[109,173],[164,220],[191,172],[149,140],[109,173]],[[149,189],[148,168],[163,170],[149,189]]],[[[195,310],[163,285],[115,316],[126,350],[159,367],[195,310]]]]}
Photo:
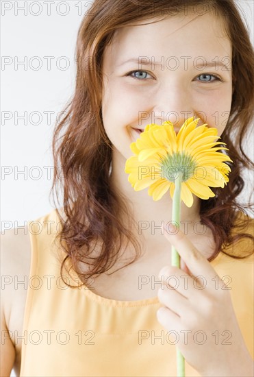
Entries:
{"type": "MultiPolygon", "coordinates": [[[[114,191],[127,197],[127,208],[136,222],[138,235],[150,244],[161,243],[161,226],[166,225],[172,219],[173,201],[169,191],[157,202],[154,202],[153,197],[148,195],[148,189],[134,191],[128,182],[128,175],[125,173],[125,162],[126,159],[114,149],[111,174],[112,187],[114,191]]],[[[191,208],[181,202],[180,229],[183,232],[194,233],[194,226],[200,220],[199,208],[200,200],[197,197],[194,197],[191,208]]],[[[165,238],[163,237],[163,239],[165,238]]]]}

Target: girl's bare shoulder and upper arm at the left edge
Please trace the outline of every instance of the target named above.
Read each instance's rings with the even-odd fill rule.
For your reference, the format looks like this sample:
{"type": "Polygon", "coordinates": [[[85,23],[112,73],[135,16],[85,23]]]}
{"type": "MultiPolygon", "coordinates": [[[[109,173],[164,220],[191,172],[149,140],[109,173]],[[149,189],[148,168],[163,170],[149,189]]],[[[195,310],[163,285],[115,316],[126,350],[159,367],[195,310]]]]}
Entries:
{"type": "Polygon", "coordinates": [[[1,234],[1,376],[10,376],[17,358],[14,332],[22,332],[31,261],[29,232],[15,228],[1,234]]]}

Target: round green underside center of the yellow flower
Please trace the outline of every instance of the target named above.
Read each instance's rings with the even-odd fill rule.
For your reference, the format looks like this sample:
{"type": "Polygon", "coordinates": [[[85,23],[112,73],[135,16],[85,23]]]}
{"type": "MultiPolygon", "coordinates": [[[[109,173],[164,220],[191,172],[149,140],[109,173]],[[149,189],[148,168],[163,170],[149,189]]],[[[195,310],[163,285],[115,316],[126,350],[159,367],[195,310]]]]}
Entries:
{"type": "Polygon", "coordinates": [[[196,162],[192,159],[192,156],[184,152],[177,152],[172,155],[168,154],[166,158],[162,159],[162,178],[175,182],[181,172],[183,175],[182,182],[185,182],[194,175],[196,166],[196,162]]]}

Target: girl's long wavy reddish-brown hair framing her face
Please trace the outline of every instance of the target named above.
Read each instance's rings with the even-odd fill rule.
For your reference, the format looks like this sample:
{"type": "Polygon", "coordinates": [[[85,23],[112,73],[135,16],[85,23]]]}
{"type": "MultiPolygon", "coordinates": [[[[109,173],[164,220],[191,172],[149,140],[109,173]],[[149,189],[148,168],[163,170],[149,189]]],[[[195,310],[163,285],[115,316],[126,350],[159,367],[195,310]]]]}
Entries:
{"type": "Polygon", "coordinates": [[[199,10],[198,14],[203,10],[220,16],[233,49],[231,113],[221,135],[229,148],[233,167],[227,186],[223,190],[213,189],[216,197],[201,200],[201,223],[212,230],[216,245],[209,260],[220,250],[234,258],[244,258],[253,252],[253,247],[240,253],[236,252],[236,247],[229,247],[244,237],[253,239],[244,231],[246,221],[250,219],[242,217],[235,228],[236,213],[239,210],[246,213],[247,207],[236,201],[244,189],[242,171],[253,167],[244,152],[243,142],[253,120],[254,88],[253,47],[236,3],[233,0],[94,0],[77,36],[75,94],[53,135],[51,194],[55,204],[55,193],[58,204],[60,192],[63,194],[64,211],[62,215],[57,209],[62,223],[58,237],[66,252],[61,275],[68,260],[71,269],[88,282],[92,276],[115,265],[125,241],[126,245],[131,243],[136,252],[126,265],[140,257],[140,243],[131,231],[134,219],[128,212],[127,198],[113,191],[110,184],[112,143],[105,134],[101,114],[103,51],[120,27],[157,16],[162,19],[191,8],[199,10]],[[127,225],[120,214],[128,219],[127,225]],[[92,245],[97,243],[100,243],[100,251],[94,256],[92,245]],[[79,271],[79,262],[86,263],[89,271],[79,271]]]}

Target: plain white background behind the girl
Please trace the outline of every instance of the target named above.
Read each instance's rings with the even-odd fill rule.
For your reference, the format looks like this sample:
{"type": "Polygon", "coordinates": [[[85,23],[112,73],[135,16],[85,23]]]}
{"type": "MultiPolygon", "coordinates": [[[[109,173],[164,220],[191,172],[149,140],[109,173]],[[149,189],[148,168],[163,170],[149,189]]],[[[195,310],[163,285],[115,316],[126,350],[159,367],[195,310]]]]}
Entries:
{"type": "MultiPolygon", "coordinates": [[[[57,114],[73,95],[77,30],[92,1],[49,3],[1,1],[1,56],[5,63],[1,66],[2,229],[22,226],[24,221],[45,215],[53,208],[49,202],[53,126],[57,114]],[[27,15],[21,9],[24,5],[27,15]],[[50,62],[44,58],[50,56],[50,62]],[[26,68],[17,64],[24,59],[26,68]],[[70,64],[68,69],[66,62],[70,64]],[[40,63],[41,68],[35,70],[40,63]],[[24,112],[27,124],[18,119],[24,112]],[[27,176],[18,173],[24,169],[27,176]]],[[[238,3],[253,40],[253,0],[238,3]]],[[[253,143],[248,148],[253,158],[253,143]]]]}

